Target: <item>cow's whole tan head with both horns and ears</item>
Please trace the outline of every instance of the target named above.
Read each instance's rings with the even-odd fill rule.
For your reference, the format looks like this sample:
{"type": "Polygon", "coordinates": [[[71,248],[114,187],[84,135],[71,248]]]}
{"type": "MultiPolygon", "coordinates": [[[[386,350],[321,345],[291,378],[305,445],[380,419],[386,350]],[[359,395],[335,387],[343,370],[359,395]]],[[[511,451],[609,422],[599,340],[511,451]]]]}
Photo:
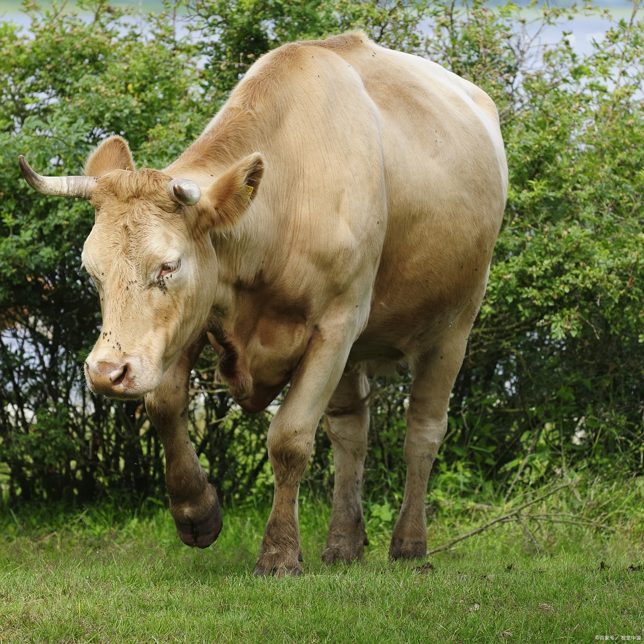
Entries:
{"type": "Polygon", "coordinates": [[[33,189],[95,207],[82,261],[99,291],[103,325],[85,376],[95,393],[141,398],[200,333],[217,281],[210,232],[234,227],[245,213],[263,173],[261,155],[232,164],[203,193],[185,178],[135,171],[120,137],[88,158],[86,176],[40,176],[24,156],[19,161],[33,189]]]}

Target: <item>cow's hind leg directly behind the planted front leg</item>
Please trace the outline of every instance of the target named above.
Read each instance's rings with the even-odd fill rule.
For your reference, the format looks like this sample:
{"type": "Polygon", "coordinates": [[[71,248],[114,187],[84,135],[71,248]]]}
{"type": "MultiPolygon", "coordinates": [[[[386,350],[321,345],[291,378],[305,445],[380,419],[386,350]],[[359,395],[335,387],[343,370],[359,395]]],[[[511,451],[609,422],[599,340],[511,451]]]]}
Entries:
{"type": "Polygon", "coordinates": [[[362,477],[369,427],[366,376],[344,374],[331,397],[325,426],[333,446],[335,486],[323,562],[352,562],[369,545],[362,509],[362,477]]]}

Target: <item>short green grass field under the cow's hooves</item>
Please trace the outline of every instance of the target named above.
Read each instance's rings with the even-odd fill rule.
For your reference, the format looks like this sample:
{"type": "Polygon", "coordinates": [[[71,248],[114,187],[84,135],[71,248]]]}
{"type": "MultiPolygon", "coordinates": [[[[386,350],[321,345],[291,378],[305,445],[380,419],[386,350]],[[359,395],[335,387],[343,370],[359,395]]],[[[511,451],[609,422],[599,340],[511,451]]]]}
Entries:
{"type": "MultiPolygon", "coordinates": [[[[478,498],[436,501],[429,506],[430,547],[525,498],[531,497],[502,509],[478,498]]],[[[525,529],[502,524],[431,556],[434,571],[388,562],[392,522],[377,509],[368,518],[372,545],[361,562],[321,564],[329,508],[304,500],[305,574],[254,578],[267,513],[228,509],[218,542],[194,551],[176,539],[166,509],[150,502],[138,514],[113,506],[75,513],[5,508],[0,641],[583,642],[644,636],[641,481],[564,489],[523,515],[525,529]],[[574,518],[559,522],[565,516],[574,518]]]]}

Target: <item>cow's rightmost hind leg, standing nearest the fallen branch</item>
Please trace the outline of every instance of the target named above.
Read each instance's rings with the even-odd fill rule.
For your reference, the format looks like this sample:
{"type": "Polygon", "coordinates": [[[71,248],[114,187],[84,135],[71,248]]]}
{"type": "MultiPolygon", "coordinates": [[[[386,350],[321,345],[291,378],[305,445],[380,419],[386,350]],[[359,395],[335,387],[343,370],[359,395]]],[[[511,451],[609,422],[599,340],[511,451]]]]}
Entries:
{"type": "Polygon", "coordinates": [[[392,559],[424,557],[427,553],[427,482],[447,429],[450,393],[465,355],[469,327],[465,332],[451,327],[448,337],[412,363],[404,440],[407,478],[389,549],[392,559]]]}

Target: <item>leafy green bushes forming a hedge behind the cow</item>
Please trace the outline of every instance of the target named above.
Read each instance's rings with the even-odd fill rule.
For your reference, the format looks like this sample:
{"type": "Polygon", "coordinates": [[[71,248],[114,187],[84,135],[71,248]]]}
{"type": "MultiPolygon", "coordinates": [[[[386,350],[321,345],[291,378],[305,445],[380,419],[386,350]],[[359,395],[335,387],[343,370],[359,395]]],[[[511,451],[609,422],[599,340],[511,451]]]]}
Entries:
{"type": "MultiPolygon", "coordinates": [[[[505,494],[570,469],[644,471],[637,6],[630,21],[607,23],[587,57],[565,37],[542,49],[528,35],[576,8],[533,6],[528,24],[516,5],[480,0],[185,0],[147,16],[104,0],[79,6],[89,21],[29,3],[28,33],[0,23],[0,476],[9,498],[164,489],[142,403],[105,401],[82,382],[100,327],[80,260],[91,207],[28,189],[17,155],[44,174],[78,174],[90,149],[119,133],[139,167],[162,167],[262,53],[352,27],[476,82],[497,102],[506,141],[506,216],[433,473],[436,498],[505,494]],[[188,37],[176,35],[180,21],[188,37]]],[[[384,521],[404,485],[409,378],[372,386],[365,482],[384,521]]],[[[269,413],[232,405],[212,352],[192,392],[196,449],[225,500],[269,497],[269,413]]],[[[303,489],[328,497],[332,483],[321,430],[303,489]]]]}

